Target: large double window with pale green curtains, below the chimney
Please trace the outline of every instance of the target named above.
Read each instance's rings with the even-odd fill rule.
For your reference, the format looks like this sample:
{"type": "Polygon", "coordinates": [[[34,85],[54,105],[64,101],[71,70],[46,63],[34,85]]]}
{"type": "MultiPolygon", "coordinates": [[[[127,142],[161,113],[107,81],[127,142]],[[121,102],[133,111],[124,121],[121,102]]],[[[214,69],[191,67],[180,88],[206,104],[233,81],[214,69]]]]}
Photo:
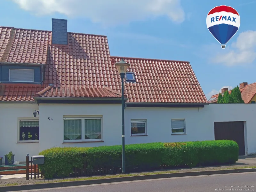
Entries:
{"type": "Polygon", "coordinates": [[[102,118],[64,118],[64,142],[102,140],[102,118]]]}

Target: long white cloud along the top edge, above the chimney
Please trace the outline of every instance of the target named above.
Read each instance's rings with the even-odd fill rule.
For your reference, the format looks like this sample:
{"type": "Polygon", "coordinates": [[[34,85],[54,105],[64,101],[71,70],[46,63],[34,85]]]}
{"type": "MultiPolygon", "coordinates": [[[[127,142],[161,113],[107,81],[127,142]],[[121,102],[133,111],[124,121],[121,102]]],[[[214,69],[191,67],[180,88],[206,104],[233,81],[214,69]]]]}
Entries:
{"type": "Polygon", "coordinates": [[[116,25],[168,16],[180,23],[185,13],[180,0],[12,0],[26,11],[36,15],[55,12],[68,17],[83,17],[103,25],[116,25]]]}

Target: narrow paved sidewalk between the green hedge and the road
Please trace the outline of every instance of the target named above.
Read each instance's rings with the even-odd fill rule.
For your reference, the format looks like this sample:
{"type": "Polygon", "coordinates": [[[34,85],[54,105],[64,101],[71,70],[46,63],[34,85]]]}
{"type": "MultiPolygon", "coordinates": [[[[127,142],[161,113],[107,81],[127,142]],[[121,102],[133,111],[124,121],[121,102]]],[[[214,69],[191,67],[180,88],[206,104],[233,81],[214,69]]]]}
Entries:
{"type": "MultiPolygon", "coordinates": [[[[232,164],[232,165],[223,165],[223,166],[210,166],[210,167],[196,167],[196,168],[180,168],[180,169],[171,169],[171,170],[159,170],[159,171],[155,171],[155,172],[199,172],[199,171],[214,171],[214,170],[225,170],[225,169],[237,169],[237,168],[256,168],[256,156],[241,156],[239,157],[238,161],[236,162],[236,164],[232,164]]],[[[130,174],[143,174],[142,172],[138,173],[130,173],[130,174]]],[[[6,175],[8,176],[8,175],[6,175]]],[[[18,185],[26,185],[26,184],[35,184],[35,183],[48,183],[48,182],[57,182],[57,181],[61,181],[61,180],[67,180],[67,179],[72,179],[72,178],[64,178],[64,179],[49,179],[49,180],[44,180],[44,179],[30,179],[30,180],[26,180],[26,174],[16,174],[15,175],[9,175],[9,177],[11,178],[4,178],[4,179],[0,179],[0,186],[6,186],[6,185],[13,185],[15,183],[17,183],[18,185]],[[20,177],[19,177],[20,175],[20,177]],[[25,176],[23,178],[23,176],[25,176]]],[[[110,175],[109,175],[110,176],[110,175]]],[[[0,176],[1,177],[1,176],[0,176]]],[[[104,175],[94,175],[94,176],[86,176],[86,177],[79,177],[79,178],[89,178],[89,177],[98,177],[100,179],[100,177],[104,177],[104,175]]]]}

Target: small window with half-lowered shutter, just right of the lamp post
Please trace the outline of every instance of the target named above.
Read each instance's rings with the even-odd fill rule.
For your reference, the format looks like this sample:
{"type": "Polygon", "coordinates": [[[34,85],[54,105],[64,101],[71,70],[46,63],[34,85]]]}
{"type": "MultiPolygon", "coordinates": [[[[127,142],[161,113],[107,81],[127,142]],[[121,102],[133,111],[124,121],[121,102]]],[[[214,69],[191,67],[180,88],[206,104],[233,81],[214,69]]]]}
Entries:
{"type": "Polygon", "coordinates": [[[132,119],[131,120],[131,135],[147,135],[147,120],[146,119],[132,119]]]}

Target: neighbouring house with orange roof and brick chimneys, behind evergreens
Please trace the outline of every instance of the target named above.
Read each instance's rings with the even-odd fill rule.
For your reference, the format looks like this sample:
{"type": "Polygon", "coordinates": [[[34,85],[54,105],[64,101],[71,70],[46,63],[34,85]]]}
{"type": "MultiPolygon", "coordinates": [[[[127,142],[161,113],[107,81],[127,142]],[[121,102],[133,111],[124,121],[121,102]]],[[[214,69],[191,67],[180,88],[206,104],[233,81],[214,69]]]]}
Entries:
{"type": "MultiPolygon", "coordinates": [[[[248,84],[247,82],[243,82],[239,84],[239,89],[242,95],[242,99],[244,103],[255,103],[256,101],[256,83],[248,84]]],[[[223,95],[225,91],[231,93],[231,90],[228,88],[222,88],[221,94],[223,95]]],[[[209,103],[217,103],[219,94],[212,95],[212,97],[208,100],[209,103]]]]}

